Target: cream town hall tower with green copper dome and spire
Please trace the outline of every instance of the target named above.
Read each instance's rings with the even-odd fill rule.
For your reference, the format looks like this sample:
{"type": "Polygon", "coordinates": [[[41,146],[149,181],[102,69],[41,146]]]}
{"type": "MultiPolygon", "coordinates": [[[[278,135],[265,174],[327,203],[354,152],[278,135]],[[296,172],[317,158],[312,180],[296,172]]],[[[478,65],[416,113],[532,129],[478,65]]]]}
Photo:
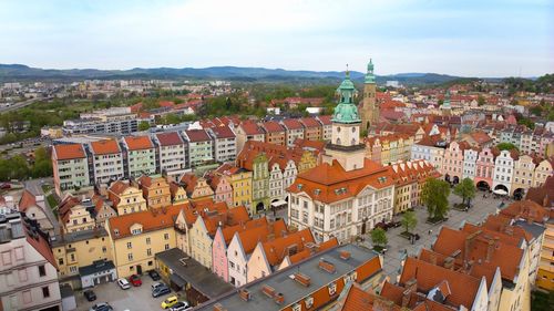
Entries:
{"type": "Polygon", "coordinates": [[[332,114],[331,142],[325,148],[324,162],[338,160],[345,170],[363,167],[366,146],[360,143],[361,118],[353,103],[356,89],[347,71],[346,77],[337,89],[339,104],[332,114]]]}

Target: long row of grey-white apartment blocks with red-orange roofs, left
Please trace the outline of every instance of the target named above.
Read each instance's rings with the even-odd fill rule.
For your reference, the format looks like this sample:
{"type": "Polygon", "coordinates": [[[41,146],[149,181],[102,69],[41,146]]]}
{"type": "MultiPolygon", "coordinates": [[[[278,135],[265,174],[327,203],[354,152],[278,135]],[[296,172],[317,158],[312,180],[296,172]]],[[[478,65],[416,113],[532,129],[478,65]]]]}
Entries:
{"type": "Polygon", "coordinates": [[[182,175],[192,167],[234,160],[236,153],[235,133],[227,126],[54,145],[54,185],[61,194],[141,175],[182,175]]]}

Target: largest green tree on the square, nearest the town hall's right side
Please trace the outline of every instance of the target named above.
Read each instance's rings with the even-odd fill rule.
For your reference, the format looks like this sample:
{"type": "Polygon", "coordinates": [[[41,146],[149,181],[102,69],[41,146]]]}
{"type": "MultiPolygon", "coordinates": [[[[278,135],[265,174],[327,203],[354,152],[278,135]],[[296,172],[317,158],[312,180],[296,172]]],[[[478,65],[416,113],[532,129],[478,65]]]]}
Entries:
{"type": "Polygon", "coordinates": [[[450,184],[437,178],[427,179],[421,189],[421,201],[427,205],[429,219],[442,220],[449,210],[450,184]]]}

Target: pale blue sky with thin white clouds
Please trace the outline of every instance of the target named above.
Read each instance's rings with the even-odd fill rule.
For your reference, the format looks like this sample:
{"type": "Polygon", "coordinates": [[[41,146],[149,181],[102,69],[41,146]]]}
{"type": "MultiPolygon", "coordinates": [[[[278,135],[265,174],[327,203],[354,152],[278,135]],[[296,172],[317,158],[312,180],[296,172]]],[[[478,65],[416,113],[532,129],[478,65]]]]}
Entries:
{"type": "Polygon", "coordinates": [[[0,63],[554,72],[552,0],[1,0],[0,63]]]}

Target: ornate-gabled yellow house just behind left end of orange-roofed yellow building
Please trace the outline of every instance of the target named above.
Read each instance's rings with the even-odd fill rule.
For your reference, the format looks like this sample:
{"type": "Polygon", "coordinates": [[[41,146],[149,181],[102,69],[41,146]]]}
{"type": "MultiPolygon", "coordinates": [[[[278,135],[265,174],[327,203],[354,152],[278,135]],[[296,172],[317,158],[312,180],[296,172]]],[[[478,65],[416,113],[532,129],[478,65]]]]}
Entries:
{"type": "Polygon", "coordinates": [[[143,211],[147,209],[143,191],[129,183],[117,180],[107,189],[107,198],[112,201],[117,215],[143,211]]]}

